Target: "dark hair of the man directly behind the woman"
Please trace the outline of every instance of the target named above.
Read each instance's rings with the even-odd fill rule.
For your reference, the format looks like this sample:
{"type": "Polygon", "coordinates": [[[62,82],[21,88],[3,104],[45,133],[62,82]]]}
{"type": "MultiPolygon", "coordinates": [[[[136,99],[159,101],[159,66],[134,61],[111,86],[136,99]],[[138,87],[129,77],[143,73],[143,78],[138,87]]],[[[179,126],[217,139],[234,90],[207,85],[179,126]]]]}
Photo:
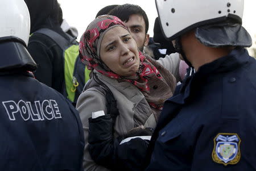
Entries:
{"type": "Polygon", "coordinates": [[[142,8],[138,5],[133,5],[126,3],[124,5],[118,5],[113,10],[109,12],[109,15],[117,16],[119,19],[121,19],[123,22],[128,22],[131,15],[137,14],[142,16],[144,19],[146,29],[145,32],[147,34],[148,31],[148,18],[147,14],[142,8]]]}

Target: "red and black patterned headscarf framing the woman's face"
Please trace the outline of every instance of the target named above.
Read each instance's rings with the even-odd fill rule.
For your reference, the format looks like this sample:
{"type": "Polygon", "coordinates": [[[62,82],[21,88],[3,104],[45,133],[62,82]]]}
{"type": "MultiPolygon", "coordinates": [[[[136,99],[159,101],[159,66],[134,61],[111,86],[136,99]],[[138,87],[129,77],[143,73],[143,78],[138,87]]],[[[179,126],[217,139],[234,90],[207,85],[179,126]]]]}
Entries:
{"type": "MultiPolygon", "coordinates": [[[[100,46],[104,35],[107,31],[117,26],[121,26],[130,32],[125,24],[116,16],[101,15],[94,19],[81,36],[79,43],[80,58],[89,70],[96,69],[98,72],[107,77],[131,82],[142,91],[147,99],[147,97],[149,98],[148,94],[150,93],[148,80],[151,77],[156,77],[158,80],[163,80],[163,77],[159,73],[158,69],[156,69],[156,67],[146,59],[146,56],[144,56],[142,52],[139,52],[139,69],[137,74],[132,77],[119,76],[118,74],[112,72],[112,70],[110,70],[108,66],[106,66],[105,63],[100,59],[100,46]]],[[[156,109],[162,108],[162,105],[162,103],[150,103],[150,106],[156,109]]]]}

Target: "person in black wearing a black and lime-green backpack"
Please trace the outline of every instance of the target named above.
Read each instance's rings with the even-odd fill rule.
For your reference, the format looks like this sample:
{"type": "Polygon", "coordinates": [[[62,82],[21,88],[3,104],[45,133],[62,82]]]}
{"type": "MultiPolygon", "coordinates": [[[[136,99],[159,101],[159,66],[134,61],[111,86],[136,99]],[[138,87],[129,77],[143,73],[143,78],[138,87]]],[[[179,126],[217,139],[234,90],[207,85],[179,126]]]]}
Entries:
{"type": "Polygon", "coordinates": [[[25,2],[31,18],[28,52],[38,64],[35,78],[59,91],[75,106],[89,80],[89,70],[79,59],[76,35],[68,35],[60,27],[62,12],[56,0],[25,2]]]}

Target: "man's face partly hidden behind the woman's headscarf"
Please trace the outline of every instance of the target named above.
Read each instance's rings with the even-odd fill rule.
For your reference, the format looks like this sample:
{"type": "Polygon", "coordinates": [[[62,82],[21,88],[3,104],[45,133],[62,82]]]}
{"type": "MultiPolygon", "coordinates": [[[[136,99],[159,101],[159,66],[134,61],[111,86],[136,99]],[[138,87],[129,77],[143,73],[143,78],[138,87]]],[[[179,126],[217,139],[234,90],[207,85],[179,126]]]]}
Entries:
{"type": "Polygon", "coordinates": [[[140,51],[143,51],[143,47],[148,44],[149,35],[146,34],[146,24],[141,15],[132,14],[125,25],[129,28],[131,36],[137,43],[137,47],[140,51]]]}

